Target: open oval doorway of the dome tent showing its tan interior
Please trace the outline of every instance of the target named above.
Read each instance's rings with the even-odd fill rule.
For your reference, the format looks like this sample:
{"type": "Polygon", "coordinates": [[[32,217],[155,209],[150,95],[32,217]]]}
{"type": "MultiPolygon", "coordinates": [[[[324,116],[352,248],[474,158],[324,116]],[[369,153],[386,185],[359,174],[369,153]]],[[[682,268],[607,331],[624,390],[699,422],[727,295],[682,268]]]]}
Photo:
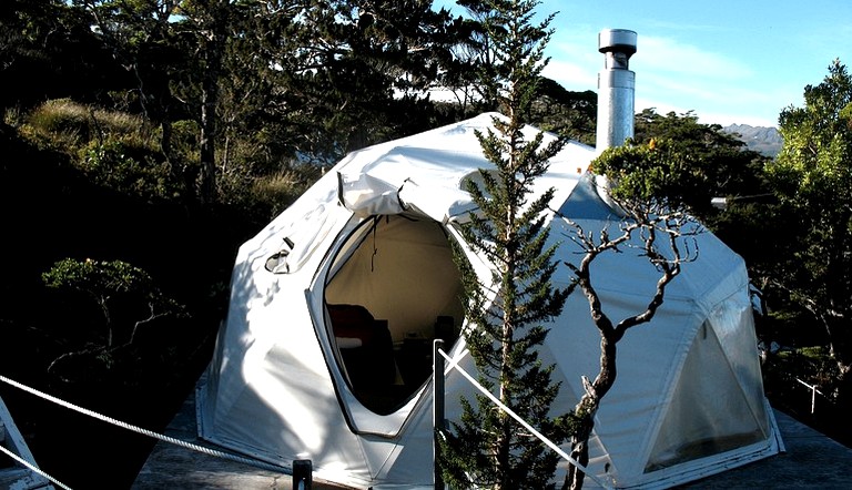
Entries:
{"type": "Polygon", "coordinates": [[[334,258],[325,280],[326,329],[348,388],[392,414],[432,376],[432,343],[448,347],[464,317],[458,268],[429,218],[374,216],[334,258]]]}

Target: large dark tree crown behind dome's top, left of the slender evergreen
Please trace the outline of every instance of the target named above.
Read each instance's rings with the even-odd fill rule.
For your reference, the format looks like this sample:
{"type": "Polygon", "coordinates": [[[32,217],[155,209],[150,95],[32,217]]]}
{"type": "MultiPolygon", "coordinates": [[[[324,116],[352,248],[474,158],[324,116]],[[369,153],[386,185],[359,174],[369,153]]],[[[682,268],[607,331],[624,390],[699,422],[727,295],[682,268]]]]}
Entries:
{"type": "Polygon", "coordinates": [[[239,25],[245,35],[230,45],[225,96],[255,112],[234,124],[262,126],[270,147],[328,164],[452,122],[415,96],[455,63],[452,27],[446,12],[424,0],[294,1],[245,16],[239,25]]]}

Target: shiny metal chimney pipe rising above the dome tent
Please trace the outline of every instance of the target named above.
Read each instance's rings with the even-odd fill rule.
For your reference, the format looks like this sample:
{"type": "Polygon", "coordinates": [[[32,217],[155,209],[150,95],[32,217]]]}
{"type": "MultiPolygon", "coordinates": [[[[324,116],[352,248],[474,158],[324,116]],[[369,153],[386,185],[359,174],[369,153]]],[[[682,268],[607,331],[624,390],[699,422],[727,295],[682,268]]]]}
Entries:
{"type": "Polygon", "coordinates": [[[633,137],[636,73],[628,61],[636,53],[636,32],[605,29],[598,33],[598,51],[605,54],[598,72],[598,153],[633,137]]]}

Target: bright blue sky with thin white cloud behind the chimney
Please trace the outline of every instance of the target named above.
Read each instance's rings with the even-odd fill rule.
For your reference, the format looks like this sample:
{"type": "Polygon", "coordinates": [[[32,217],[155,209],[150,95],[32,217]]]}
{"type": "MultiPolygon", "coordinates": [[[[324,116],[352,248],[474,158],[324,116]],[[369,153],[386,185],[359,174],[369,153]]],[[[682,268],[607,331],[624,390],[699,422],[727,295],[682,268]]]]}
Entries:
{"type": "MultiPolygon", "coordinates": [[[[440,6],[464,13],[453,0],[440,6]]],[[[544,74],[568,90],[597,90],[598,32],[637,32],[637,112],[691,110],[708,124],[777,126],[834,59],[852,71],[850,0],[542,0],[536,10],[558,12],[544,74]]]]}

